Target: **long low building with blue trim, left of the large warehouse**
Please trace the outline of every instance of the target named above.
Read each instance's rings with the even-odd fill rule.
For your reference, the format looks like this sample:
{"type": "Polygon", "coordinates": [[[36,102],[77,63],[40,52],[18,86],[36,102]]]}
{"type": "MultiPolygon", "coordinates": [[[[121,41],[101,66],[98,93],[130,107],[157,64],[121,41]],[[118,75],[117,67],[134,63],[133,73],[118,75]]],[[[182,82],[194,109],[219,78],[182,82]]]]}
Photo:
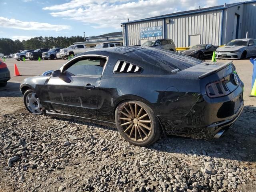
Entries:
{"type": "Polygon", "coordinates": [[[119,42],[123,45],[123,32],[113,32],[104,35],[86,38],[84,42],[75,42],[74,44],[85,44],[86,47],[95,47],[98,43],[119,42]]]}

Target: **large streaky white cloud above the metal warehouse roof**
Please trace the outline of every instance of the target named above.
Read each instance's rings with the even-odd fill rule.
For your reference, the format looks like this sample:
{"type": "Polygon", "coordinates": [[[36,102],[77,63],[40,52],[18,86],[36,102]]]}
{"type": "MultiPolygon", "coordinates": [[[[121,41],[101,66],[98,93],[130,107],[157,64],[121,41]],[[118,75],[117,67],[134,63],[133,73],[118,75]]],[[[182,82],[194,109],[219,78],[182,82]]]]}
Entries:
{"type": "Polygon", "coordinates": [[[44,7],[54,17],[91,24],[93,28],[120,29],[120,23],[142,18],[215,6],[212,0],[69,0],[64,4],[44,7]]]}

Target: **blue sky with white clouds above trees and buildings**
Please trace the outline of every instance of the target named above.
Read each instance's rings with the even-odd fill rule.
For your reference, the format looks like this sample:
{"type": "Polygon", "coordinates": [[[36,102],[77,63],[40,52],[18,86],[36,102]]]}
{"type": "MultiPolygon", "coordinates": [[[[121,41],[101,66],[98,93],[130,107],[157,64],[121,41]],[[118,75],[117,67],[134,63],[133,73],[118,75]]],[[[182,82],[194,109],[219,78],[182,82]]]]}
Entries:
{"type": "Polygon", "coordinates": [[[83,32],[86,36],[97,36],[121,31],[120,23],[127,18],[131,21],[225,2],[230,3],[229,0],[0,0],[0,38],[83,36],[83,32]]]}

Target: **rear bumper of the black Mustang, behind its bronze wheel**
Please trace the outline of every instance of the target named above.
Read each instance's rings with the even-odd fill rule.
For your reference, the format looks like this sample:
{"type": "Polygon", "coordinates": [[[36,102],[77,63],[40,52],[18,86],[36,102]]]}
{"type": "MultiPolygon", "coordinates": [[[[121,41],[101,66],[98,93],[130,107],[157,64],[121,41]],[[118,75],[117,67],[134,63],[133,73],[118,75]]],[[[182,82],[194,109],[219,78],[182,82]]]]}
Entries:
{"type": "Polygon", "coordinates": [[[158,116],[167,135],[212,139],[229,128],[242,113],[243,84],[228,98],[209,102],[202,96],[185,116],[158,116]]]}

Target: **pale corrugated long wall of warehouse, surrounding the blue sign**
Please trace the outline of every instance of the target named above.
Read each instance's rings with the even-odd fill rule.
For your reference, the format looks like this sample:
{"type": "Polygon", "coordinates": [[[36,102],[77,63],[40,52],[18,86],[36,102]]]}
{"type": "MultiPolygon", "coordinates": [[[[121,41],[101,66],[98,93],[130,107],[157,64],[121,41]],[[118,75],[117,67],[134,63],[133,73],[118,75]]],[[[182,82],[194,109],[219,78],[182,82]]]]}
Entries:
{"type": "Polygon", "coordinates": [[[148,39],[170,38],[176,47],[186,47],[190,35],[200,35],[200,43],[220,44],[222,10],[166,19],[170,19],[169,24],[164,19],[126,24],[127,45],[140,44],[140,28],[163,25],[162,36],[148,39]]]}

